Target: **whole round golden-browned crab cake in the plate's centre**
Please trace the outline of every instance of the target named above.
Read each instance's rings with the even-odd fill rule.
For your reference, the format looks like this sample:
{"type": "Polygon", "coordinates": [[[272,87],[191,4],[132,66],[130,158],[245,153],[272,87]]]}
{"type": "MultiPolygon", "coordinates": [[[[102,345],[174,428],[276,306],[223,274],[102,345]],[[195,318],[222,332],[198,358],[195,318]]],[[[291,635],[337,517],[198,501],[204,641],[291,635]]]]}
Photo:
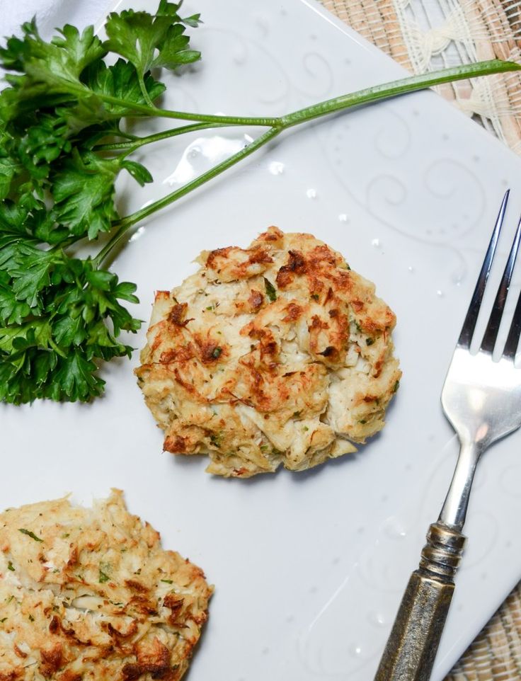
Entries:
{"type": "Polygon", "coordinates": [[[396,318],[340,253],[270,227],[197,262],[157,292],[136,370],[165,450],[248,477],[304,471],[383,427],[396,318]]]}

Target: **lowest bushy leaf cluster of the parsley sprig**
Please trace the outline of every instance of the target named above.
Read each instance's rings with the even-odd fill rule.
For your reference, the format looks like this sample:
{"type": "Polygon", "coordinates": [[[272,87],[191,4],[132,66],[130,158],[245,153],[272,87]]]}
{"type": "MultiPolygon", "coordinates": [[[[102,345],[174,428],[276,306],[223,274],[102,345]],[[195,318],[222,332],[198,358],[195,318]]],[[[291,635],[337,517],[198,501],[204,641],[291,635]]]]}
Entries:
{"type": "MultiPolygon", "coordinates": [[[[31,254],[21,249],[15,260],[23,257],[31,254]]],[[[100,395],[96,360],[130,356],[118,336],[140,326],[120,304],[137,302],[134,284],[59,251],[45,262],[45,285],[42,277],[26,282],[22,268],[0,268],[0,399],[14,404],[100,395]],[[18,294],[3,299],[4,285],[18,294]]]]}

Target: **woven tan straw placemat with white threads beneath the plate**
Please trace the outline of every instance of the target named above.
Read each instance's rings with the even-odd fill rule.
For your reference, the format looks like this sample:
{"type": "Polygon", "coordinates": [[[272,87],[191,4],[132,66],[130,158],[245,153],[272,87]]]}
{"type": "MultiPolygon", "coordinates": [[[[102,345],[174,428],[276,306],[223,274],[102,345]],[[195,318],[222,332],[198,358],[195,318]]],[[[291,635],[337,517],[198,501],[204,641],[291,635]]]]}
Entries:
{"type": "MultiPolygon", "coordinates": [[[[403,67],[422,73],[478,59],[521,59],[520,0],[322,0],[403,67]]],[[[521,154],[521,76],[437,88],[521,154]]],[[[521,582],[445,681],[521,680],[521,582]]]]}

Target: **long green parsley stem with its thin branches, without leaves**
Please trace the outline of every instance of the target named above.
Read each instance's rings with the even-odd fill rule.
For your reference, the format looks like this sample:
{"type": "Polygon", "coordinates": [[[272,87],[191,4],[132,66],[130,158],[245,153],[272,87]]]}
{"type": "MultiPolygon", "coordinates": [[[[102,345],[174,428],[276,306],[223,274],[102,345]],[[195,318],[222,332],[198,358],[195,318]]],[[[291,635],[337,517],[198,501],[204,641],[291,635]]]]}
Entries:
{"type": "MultiPolygon", "coordinates": [[[[503,62],[500,59],[492,59],[488,62],[476,62],[475,64],[463,64],[462,66],[453,67],[451,69],[442,69],[442,71],[433,71],[430,74],[411,76],[409,78],[401,79],[399,81],[393,81],[391,83],[365,88],[357,92],[328,99],[324,102],[320,102],[318,104],[314,104],[306,108],[299,109],[280,118],[263,119],[264,121],[266,121],[263,125],[269,126],[269,130],[264,132],[263,135],[257,137],[257,139],[251,142],[251,144],[248,144],[247,147],[241,149],[241,151],[238,151],[233,156],[230,156],[229,159],[222,161],[222,163],[217,164],[217,166],[214,166],[214,168],[210,168],[209,171],[202,173],[193,181],[183,185],[183,187],[174,190],[170,194],[166,195],[164,198],[154,201],[147,207],[144,207],[141,210],[138,210],[116,222],[114,225],[114,227],[117,228],[115,234],[110,239],[110,241],[108,241],[108,243],[101,249],[96,258],[94,258],[94,263],[96,264],[97,267],[99,267],[101,263],[103,263],[103,260],[108,256],[110,251],[112,251],[112,249],[115,248],[115,246],[125,236],[125,232],[128,229],[130,229],[130,227],[132,227],[133,224],[136,224],[136,222],[139,222],[145,217],[149,217],[149,215],[153,214],[154,212],[170,205],[174,201],[195,190],[197,187],[200,187],[202,184],[210,181],[217,175],[220,175],[220,173],[226,171],[228,168],[234,166],[236,163],[239,163],[239,161],[246,158],[246,156],[253,154],[254,151],[260,149],[260,147],[263,147],[264,144],[267,144],[270,141],[270,139],[273,139],[277,135],[280,135],[282,131],[287,130],[290,127],[300,125],[301,123],[307,122],[309,120],[321,118],[323,116],[330,115],[331,113],[336,113],[341,110],[346,110],[362,104],[381,101],[383,99],[388,99],[390,97],[399,96],[405,93],[423,90],[425,88],[430,88],[432,86],[440,85],[442,83],[448,83],[468,78],[475,78],[477,76],[486,76],[490,74],[503,73],[504,71],[518,71],[520,69],[521,66],[519,64],[515,64],[515,62],[503,62]],[[270,123],[268,121],[273,122],[270,123]]],[[[156,110],[157,115],[161,115],[161,113],[159,113],[160,111],[161,110],[156,110]]],[[[191,116],[191,114],[186,114],[186,116],[188,115],[191,116]]],[[[212,120],[207,120],[206,122],[214,122],[221,124],[224,123],[223,120],[219,121],[214,120],[216,117],[210,118],[212,120]]],[[[227,120],[234,121],[231,125],[248,125],[244,121],[251,119],[230,117],[227,120]]],[[[256,123],[256,125],[261,124],[256,123]]],[[[200,129],[200,127],[198,126],[184,126],[184,128],[185,128],[184,132],[188,132],[186,130],[187,128],[200,129]]],[[[177,130],[183,130],[183,128],[181,127],[178,128],[177,130]]],[[[178,134],[181,134],[181,132],[178,132],[178,134]]],[[[158,133],[158,135],[163,135],[163,133],[158,133]]],[[[166,137],[171,137],[173,135],[173,131],[168,131],[164,135],[166,137]]],[[[164,138],[157,137],[157,139],[164,138]]],[[[151,140],[149,139],[148,142],[144,142],[144,144],[147,144],[150,141],[151,140]]],[[[127,149],[128,147],[120,148],[127,149]]]]}

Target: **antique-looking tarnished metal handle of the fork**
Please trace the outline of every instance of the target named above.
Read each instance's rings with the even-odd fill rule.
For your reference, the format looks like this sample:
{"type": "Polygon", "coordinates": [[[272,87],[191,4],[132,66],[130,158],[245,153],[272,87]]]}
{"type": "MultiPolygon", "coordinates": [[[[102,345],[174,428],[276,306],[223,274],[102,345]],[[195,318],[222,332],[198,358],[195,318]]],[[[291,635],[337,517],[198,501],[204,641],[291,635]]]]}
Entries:
{"type": "Polygon", "coordinates": [[[430,526],[420,566],[408,581],[374,681],[428,681],[454,593],[465,537],[430,526]]]}

